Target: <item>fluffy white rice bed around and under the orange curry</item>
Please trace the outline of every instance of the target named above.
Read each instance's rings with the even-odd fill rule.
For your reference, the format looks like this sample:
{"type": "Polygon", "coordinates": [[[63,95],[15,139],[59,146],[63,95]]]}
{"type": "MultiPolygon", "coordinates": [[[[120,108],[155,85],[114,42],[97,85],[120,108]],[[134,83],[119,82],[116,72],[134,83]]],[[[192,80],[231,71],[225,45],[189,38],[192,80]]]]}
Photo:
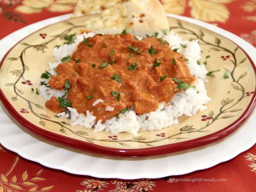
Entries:
{"type": "MultiPolygon", "coordinates": [[[[97,32],[100,33],[100,32],[97,32]]],[[[57,67],[61,63],[61,59],[67,55],[72,55],[76,50],[79,42],[83,41],[84,37],[92,37],[94,33],[84,33],[77,36],[73,44],[64,44],[59,48],[53,49],[53,57],[56,60],[55,63],[49,63],[49,72],[56,74],[53,68],[57,67]]],[[[128,132],[135,134],[139,131],[153,131],[160,130],[165,127],[169,127],[173,124],[178,124],[178,117],[180,116],[193,116],[197,111],[203,111],[207,107],[204,106],[211,99],[207,96],[207,92],[204,87],[204,82],[207,82],[206,74],[208,71],[204,64],[198,65],[197,60],[201,58],[201,48],[198,44],[198,40],[182,41],[182,38],[171,32],[170,35],[164,36],[163,33],[159,33],[157,37],[162,37],[166,40],[172,49],[179,48],[178,52],[183,54],[188,59],[188,67],[190,74],[196,76],[196,81],[193,84],[196,88],[188,88],[174,95],[174,98],[169,103],[159,103],[156,110],[145,113],[142,115],[136,115],[133,107],[126,111],[124,114],[119,114],[118,117],[112,117],[105,123],[99,120],[96,123],[96,117],[92,115],[92,112],[86,111],[86,115],[78,114],[75,108],[68,107],[69,114],[62,112],[57,116],[70,118],[71,125],[80,125],[85,128],[94,128],[93,132],[108,131],[111,133],[128,132]],[[186,44],[186,48],[182,48],[181,44],[186,44]]],[[[138,37],[141,39],[141,37],[138,37]]],[[[40,79],[40,81],[48,82],[47,79],[40,79]]],[[[61,97],[65,91],[55,90],[45,85],[39,87],[40,95],[46,100],[50,100],[52,96],[61,97]]],[[[67,97],[67,96],[66,96],[67,97]]],[[[99,102],[104,102],[102,99],[94,101],[92,106],[97,105],[99,102]]],[[[112,111],[114,108],[106,107],[106,111],[112,111]]]]}

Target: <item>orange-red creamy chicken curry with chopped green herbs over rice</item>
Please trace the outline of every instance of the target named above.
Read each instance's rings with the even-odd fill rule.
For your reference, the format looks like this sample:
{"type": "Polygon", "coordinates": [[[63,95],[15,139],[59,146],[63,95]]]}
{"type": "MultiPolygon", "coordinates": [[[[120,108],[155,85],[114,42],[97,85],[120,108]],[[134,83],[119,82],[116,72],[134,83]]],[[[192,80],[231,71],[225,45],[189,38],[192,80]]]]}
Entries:
{"type": "Polygon", "coordinates": [[[67,106],[78,113],[89,110],[103,122],[132,106],[137,114],[149,113],[195,81],[186,58],[166,41],[156,37],[140,41],[129,33],[84,39],[56,72],[49,85],[65,88],[68,97],[53,96],[46,107],[56,113],[67,106]]]}

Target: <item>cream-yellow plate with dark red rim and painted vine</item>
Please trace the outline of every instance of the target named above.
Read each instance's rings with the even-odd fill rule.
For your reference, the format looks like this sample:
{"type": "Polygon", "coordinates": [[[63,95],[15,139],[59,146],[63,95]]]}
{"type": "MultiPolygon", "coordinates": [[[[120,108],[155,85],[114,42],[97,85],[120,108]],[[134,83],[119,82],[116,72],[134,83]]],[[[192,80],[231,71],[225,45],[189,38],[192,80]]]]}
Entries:
{"type": "Polygon", "coordinates": [[[154,156],[180,151],[219,140],[238,128],[255,105],[255,66],[236,43],[198,25],[168,16],[170,28],[184,39],[198,38],[202,61],[209,71],[219,70],[206,84],[212,101],[208,109],[180,124],[158,131],[113,135],[70,126],[44,107],[44,98],[31,91],[38,77],[53,62],[52,49],[63,36],[79,33],[84,20],[72,18],[44,27],[16,44],[1,61],[0,99],[4,107],[28,131],[61,145],[109,156],[154,156]],[[42,35],[44,34],[44,35],[42,35]],[[210,57],[209,57],[210,56],[210,57]],[[40,59],[39,59],[40,58],[40,59]],[[223,78],[225,71],[230,77],[223,78]]]}

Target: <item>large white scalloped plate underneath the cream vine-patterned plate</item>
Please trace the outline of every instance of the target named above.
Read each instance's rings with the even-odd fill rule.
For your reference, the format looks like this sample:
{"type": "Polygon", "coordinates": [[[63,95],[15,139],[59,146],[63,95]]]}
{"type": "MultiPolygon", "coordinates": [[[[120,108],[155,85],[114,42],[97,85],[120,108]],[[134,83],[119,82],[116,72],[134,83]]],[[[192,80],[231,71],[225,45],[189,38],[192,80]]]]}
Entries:
{"type": "MultiPolygon", "coordinates": [[[[241,45],[249,55],[255,55],[255,48],[252,45],[228,31],[192,18],[178,15],[170,16],[204,26],[228,36],[241,45]]],[[[43,20],[6,36],[0,41],[2,45],[5,45],[0,50],[0,57],[3,57],[4,53],[21,39],[21,36],[27,36],[31,31],[69,17],[70,14],[43,20]]],[[[252,57],[252,59],[254,62],[256,61],[255,57],[252,57]]],[[[21,129],[0,108],[0,142],[5,148],[26,159],[73,174],[118,179],[160,178],[206,169],[228,161],[251,148],[256,143],[256,129],[252,126],[256,123],[255,117],[254,112],[239,129],[228,135],[224,140],[170,155],[131,159],[93,156],[63,146],[56,146],[21,129]],[[19,142],[17,142],[17,138],[19,138],[19,142]],[[129,171],[127,171],[128,169],[129,171]]]]}

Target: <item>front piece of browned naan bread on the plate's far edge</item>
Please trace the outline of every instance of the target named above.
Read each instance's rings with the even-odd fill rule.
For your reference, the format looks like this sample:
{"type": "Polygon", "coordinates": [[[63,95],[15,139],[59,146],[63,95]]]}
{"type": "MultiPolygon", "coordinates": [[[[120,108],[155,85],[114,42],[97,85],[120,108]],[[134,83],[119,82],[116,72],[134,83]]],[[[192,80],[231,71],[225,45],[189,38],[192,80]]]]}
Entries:
{"type": "Polygon", "coordinates": [[[85,21],[85,30],[96,33],[121,33],[126,27],[145,36],[169,29],[169,24],[158,0],[123,0],[85,21]]]}

